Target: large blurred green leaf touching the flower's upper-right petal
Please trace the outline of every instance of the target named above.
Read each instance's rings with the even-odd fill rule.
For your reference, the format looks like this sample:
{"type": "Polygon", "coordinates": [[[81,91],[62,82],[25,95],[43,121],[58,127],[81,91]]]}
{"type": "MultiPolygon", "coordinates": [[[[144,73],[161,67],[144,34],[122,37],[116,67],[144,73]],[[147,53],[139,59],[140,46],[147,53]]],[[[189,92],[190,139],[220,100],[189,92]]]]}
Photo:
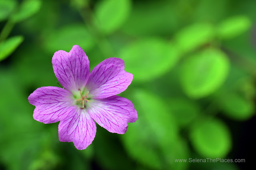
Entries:
{"type": "Polygon", "coordinates": [[[172,44],[152,38],[124,47],[119,57],[124,60],[126,71],[134,74],[135,81],[146,81],[170,70],[179,55],[172,44]]]}

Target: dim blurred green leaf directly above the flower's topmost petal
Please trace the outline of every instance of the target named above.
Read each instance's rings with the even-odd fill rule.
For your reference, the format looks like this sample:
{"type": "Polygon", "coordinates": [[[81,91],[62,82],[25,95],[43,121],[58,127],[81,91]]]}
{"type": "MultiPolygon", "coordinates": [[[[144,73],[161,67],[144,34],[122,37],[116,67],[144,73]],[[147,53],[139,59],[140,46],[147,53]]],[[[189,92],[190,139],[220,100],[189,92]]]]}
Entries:
{"type": "Polygon", "coordinates": [[[94,40],[84,25],[73,24],[52,31],[45,37],[44,47],[49,53],[58,50],[69,52],[73,45],[79,45],[84,51],[90,50],[94,40]]]}

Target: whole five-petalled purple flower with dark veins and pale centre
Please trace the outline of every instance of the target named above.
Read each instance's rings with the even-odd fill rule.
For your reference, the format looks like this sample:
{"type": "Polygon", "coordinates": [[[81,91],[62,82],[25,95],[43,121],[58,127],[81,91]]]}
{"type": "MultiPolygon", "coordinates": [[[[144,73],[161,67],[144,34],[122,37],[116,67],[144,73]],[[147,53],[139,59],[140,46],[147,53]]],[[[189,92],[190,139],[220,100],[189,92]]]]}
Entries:
{"type": "Polygon", "coordinates": [[[36,106],[33,117],[58,126],[59,140],[86,149],[96,134],[96,124],[112,133],[124,134],[128,122],[138,119],[132,102],[116,96],[131,84],[133,75],[124,71],[124,61],[109,58],[90,72],[83,49],[57,51],[52,57],[54,73],[62,86],[40,87],[28,97],[36,106]]]}

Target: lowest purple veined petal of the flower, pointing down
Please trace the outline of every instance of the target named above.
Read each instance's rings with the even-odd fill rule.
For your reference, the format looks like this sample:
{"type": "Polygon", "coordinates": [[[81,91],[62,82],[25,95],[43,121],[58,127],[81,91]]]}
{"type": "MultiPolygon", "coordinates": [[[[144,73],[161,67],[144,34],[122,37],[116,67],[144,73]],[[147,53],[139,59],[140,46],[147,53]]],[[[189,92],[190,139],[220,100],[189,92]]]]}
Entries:
{"type": "Polygon", "coordinates": [[[96,124],[86,109],[76,107],[59,123],[59,140],[73,142],[76,149],[86,149],[96,135],[96,124]]]}

